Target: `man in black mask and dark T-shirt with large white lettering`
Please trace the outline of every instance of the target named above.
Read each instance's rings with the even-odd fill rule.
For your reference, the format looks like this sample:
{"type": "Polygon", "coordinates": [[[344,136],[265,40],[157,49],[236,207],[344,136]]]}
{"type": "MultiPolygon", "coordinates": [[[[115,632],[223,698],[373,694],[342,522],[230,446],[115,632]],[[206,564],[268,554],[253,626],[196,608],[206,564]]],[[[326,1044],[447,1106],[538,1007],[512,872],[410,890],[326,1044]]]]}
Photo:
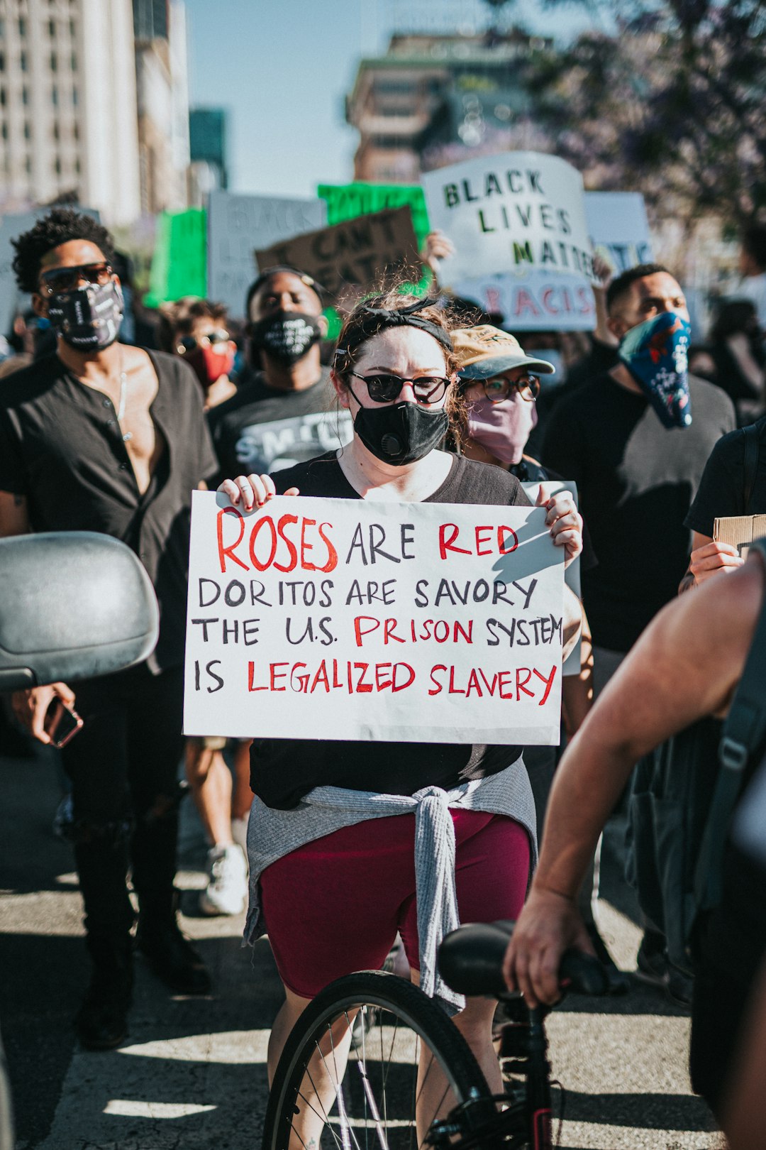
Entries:
{"type": "Polygon", "coordinates": [[[351,438],[319,362],[327,331],[320,289],[294,268],[271,268],[247,293],[249,367],[237,394],[209,415],[222,476],[276,471],[351,438]]]}

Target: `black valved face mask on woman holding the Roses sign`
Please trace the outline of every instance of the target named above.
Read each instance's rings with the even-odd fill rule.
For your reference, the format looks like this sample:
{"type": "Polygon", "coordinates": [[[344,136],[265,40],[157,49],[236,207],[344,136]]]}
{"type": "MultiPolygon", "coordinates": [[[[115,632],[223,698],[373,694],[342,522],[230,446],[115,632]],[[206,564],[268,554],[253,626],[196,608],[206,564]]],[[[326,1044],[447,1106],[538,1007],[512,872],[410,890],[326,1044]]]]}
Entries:
{"type": "Polygon", "coordinates": [[[428,411],[419,404],[359,407],[354,430],[384,463],[403,467],[427,455],[447,435],[449,417],[443,407],[428,411]]]}

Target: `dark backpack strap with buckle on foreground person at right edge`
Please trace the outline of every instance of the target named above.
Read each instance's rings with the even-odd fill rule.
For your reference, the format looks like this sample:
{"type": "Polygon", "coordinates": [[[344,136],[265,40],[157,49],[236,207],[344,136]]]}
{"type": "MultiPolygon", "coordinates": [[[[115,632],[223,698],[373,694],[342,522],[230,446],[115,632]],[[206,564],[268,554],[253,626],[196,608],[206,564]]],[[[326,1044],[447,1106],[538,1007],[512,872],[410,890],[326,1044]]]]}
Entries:
{"type": "MultiPolygon", "coordinates": [[[[756,539],[750,550],[760,553],[766,570],[766,538],[756,539]]],[[[709,910],[720,902],[724,850],[732,814],[742,791],[744,769],[765,739],[766,597],[718,749],[721,769],[695,868],[694,895],[698,911],[709,910]]]]}

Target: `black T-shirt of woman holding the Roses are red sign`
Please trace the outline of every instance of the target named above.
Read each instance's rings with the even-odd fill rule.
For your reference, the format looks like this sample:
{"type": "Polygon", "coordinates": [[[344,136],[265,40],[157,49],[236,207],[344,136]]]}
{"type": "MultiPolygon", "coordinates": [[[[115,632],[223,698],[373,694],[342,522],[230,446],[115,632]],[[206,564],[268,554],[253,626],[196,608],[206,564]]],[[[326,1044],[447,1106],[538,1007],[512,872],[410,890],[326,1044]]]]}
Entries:
{"type": "MultiPolygon", "coordinates": [[[[335,452],[273,476],[278,493],[296,486],[303,496],[358,499],[335,452]]],[[[498,467],[455,455],[449,475],[424,503],[528,507],[518,480],[498,467]]],[[[497,774],[520,746],[461,743],[372,743],[340,739],[255,738],[250,787],[266,806],[296,806],[315,787],[346,787],[385,795],[413,795],[421,787],[449,789],[497,774]]]]}

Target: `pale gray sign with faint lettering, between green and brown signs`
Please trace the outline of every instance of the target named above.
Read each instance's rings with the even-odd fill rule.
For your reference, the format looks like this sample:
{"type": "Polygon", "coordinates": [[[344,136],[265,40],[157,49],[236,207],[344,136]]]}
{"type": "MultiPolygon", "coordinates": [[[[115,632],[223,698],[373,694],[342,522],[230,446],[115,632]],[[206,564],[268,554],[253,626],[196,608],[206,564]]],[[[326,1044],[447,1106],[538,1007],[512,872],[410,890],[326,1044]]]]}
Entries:
{"type": "Polygon", "coordinates": [[[323,228],[327,204],[319,199],[210,192],[208,200],[208,297],[242,319],[247,289],[257,276],[256,247],[323,228]]]}

